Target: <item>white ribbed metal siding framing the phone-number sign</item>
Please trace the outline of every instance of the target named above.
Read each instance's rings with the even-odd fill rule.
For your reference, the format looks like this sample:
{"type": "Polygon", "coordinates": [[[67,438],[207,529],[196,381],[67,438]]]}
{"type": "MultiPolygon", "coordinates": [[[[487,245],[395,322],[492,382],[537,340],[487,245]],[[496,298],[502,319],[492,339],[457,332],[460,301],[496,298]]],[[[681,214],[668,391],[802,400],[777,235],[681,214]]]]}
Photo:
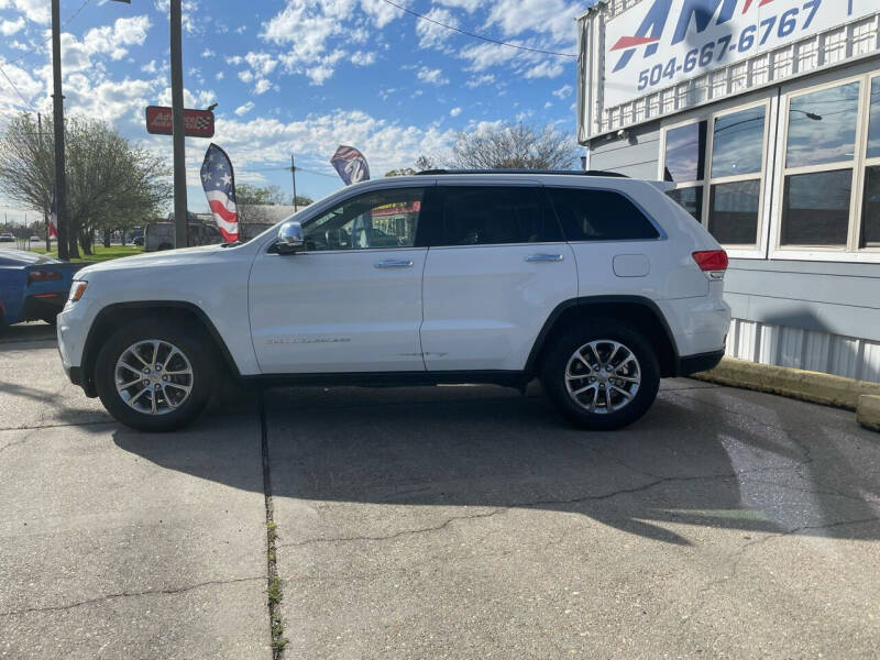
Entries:
{"type": "Polygon", "coordinates": [[[614,108],[602,99],[605,23],[644,0],[609,0],[580,21],[579,139],[682,112],[759,87],[832,67],[880,50],[880,14],[796,41],[782,48],[691,78],[614,108]]]}

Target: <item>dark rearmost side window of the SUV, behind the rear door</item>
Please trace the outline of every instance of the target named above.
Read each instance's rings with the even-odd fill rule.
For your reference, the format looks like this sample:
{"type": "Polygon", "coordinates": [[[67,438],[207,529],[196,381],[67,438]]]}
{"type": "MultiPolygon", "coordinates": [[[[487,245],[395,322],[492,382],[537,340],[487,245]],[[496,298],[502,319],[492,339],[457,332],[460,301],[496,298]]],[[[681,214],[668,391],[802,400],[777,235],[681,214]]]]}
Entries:
{"type": "Polygon", "coordinates": [[[629,199],[613,190],[547,188],[569,241],[638,241],[660,237],[629,199]]]}

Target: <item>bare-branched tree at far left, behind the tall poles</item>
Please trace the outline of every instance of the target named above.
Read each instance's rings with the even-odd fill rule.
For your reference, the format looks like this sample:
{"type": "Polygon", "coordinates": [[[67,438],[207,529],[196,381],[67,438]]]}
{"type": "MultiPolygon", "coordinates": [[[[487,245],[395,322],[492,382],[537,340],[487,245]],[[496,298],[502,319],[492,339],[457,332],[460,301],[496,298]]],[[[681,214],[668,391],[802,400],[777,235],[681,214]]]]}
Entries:
{"type": "MultiPolygon", "coordinates": [[[[172,197],[162,158],[102,121],[70,118],[65,124],[68,252],[91,254],[97,232],[143,222],[172,197]]],[[[12,118],[0,135],[0,189],[35,210],[48,204],[55,172],[52,120],[43,131],[29,114],[12,118]]]]}

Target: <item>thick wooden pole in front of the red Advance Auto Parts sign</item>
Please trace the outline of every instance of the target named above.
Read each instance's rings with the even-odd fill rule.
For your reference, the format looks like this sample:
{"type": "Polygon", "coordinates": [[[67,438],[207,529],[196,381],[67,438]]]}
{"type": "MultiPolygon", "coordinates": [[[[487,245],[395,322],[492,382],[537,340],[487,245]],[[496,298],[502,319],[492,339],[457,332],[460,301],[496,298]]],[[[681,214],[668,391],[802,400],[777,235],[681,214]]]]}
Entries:
{"type": "MultiPolygon", "coordinates": [[[[57,0],[54,0],[57,2],[57,0]]],[[[187,245],[184,55],[180,0],[170,0],[172,124],[174,131],[174,246],[187,245]]]]}

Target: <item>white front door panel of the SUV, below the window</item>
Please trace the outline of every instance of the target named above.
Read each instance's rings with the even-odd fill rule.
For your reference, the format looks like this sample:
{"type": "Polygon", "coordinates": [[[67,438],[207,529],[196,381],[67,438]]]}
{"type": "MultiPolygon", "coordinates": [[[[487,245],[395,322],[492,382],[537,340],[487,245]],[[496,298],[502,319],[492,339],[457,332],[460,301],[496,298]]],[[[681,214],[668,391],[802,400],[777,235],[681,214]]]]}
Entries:
{"type": "Polygon", "coordinates": [[[254,351],[265,374],[424,371],[426,249],[266,253],[251,272],[254,351]]]}

